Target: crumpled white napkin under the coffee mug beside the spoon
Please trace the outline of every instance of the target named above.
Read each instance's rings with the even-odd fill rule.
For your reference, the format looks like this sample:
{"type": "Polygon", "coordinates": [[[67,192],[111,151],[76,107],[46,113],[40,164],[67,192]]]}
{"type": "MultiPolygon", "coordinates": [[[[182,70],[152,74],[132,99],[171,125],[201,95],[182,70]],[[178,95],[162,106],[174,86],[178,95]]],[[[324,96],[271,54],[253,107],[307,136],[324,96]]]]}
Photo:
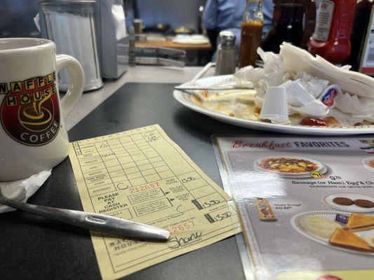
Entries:
{"type": "MultiPolygon", "coordinates": [[[[51,176],[51,171],[52,169],[49,169],[32,175],[27,179],[0,183],[1,193],[10,200],[26,202],[51,176]]],[[[14,208],[0,204],[0,214],[14,210],[14,208]]]]}

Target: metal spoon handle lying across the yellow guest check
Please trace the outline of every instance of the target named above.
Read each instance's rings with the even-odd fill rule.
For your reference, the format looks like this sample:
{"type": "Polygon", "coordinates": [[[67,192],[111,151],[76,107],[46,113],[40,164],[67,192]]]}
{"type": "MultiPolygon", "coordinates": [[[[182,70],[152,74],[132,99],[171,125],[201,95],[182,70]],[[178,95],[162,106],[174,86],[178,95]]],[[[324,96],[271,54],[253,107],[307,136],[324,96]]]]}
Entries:
{"type": "Polygon", "coordinates": [[[112,216],[88,213],[84,211],[37,206],[9,200],[7,197],[4,197],[4,195],[1,194],[1,188],[0,204],[46,218],[51,218],[62,223],[76,225],[77,227],[86,228],[87,230],[106,232],[112,235],[155,241],[168,241],[170,237],[170,232],[167,230],[152,227],[152,225],[128,221],[122,218],[115,218],[112,216]]]}

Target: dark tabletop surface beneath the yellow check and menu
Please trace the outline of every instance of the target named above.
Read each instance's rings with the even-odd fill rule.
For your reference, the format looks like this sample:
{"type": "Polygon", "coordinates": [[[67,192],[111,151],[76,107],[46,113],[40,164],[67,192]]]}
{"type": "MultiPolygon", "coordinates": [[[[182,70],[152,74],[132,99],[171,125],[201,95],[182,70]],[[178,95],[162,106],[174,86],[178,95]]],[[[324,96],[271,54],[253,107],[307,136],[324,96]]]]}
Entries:
{"type": "MultiPolygon", "coordinates": [[[[173,84],[128,83],[69,131],[70,141],[158,123],[222,186],[212,134],[259,133],[184,108],[173,84]]],[[[82,210],[67,158],[29,203],[82,210]]],[[[15,211],[0,215],[0,279],[100,279],[87,230],[15,211]]],[[[234,237],[135,272],[125,279],[244,279],[234,237]]]]}

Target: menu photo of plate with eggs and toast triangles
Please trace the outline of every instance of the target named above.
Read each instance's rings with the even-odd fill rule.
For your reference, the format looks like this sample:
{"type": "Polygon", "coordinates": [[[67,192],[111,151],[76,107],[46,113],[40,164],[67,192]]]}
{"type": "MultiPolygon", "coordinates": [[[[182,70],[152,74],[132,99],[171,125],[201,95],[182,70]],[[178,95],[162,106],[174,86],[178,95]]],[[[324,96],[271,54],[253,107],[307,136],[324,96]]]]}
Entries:
{"type": "Polygon", "coordinates": [[[309,211],[293,216],[291,225],[301,235],[319,244],[374,256],[374,216],[309,211]]]}

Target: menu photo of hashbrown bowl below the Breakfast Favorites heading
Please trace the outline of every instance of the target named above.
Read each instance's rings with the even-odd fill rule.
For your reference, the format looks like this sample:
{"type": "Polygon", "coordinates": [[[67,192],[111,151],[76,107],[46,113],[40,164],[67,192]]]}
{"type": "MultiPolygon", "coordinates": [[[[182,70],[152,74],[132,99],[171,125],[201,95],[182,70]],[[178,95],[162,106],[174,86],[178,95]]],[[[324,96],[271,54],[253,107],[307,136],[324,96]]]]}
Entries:
{"type": "Polygon", "coordinates": [[[312,172],[324,174],[328,170],[321,162],[294,155],[260,158],[255,161],[254,168],[288,178],[308,178],[312,177],[312,172]]]}

